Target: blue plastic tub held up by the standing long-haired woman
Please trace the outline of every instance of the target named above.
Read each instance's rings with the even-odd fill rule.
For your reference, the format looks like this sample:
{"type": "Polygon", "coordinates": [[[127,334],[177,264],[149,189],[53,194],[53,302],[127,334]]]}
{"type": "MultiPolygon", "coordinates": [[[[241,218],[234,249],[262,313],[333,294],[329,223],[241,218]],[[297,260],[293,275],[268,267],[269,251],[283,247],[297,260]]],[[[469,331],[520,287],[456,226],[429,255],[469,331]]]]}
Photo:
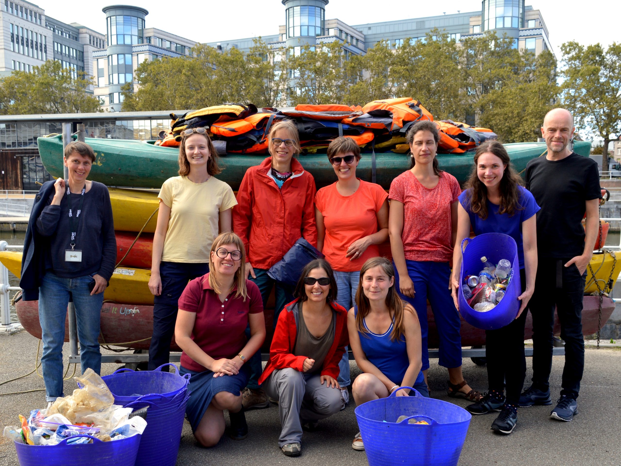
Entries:
{"type": "Polygon", "coordinates": [[[517,244],[509,235],[502,233],[484,233],[473,239],[465,238],[461,242],[460,285],[464,283],[464,277],[479,275],[483,269],[481,257],[487,257],[489,262],[497,264],[501,259],[509,259],[513,269],[513,276],[505,290],[502,301],[491,311],[479,313],[471,308],[464,298],[461,286],[458,290],[460,313],[464,320],[474,327],[484,330],[495,330],[504,327],[514,321],[520,310],[520,301],[517,299],[522,294],[520,282],[520,262],[517,255],[517,244]]]}

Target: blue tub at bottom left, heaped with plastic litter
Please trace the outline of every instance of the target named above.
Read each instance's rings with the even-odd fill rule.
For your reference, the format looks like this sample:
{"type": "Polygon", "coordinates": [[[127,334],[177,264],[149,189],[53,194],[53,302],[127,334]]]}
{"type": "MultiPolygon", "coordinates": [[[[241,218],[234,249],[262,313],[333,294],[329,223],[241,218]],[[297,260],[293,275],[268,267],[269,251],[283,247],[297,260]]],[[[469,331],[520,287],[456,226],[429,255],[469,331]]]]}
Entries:
{"type": "Polygon", "coordinates": [[[21,466],[134,466],[140,434],[127,439],[102,442],[88,435],[91,444],[67,445],[67,439],[58,445],[26,445],[15,442],[17,459],[21,466]]]}

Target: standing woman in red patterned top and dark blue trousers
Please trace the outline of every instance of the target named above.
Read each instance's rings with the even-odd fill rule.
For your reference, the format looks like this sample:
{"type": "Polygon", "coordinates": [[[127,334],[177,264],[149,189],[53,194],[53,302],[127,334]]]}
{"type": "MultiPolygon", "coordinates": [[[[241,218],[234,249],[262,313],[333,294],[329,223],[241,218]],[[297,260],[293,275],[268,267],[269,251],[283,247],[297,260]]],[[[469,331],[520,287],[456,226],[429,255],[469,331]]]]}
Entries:
{"type": "Polygon", "coordinates": [[[412,168],[392,180],[389,235],[397,270],[397,290],[419,314],[422,370],[427,382],[427,299],[440,337],[440,360],[448,368],[448,395],[478,400],[461,373],[460,314],[449,289],[457,228],[460,185],[438,168],[438,129],[430,121],[414,124],[406,134],[412,168]]]}

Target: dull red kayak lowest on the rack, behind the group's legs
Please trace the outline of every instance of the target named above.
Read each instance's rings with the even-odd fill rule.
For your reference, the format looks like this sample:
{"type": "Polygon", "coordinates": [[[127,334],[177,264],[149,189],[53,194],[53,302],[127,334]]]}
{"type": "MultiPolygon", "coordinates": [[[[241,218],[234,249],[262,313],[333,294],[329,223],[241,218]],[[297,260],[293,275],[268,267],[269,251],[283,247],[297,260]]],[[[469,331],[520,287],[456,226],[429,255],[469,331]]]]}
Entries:
{"type": "MultiPolygon", "coordinates": [[[[582,333],[591,335],[597,332],[599,298],[597,296],[584,296],[582,302],[582,333]]],[[[17,318],[29,334],[41,338],[41,326],[39,324],[39,308],[37,301],[19,301],[16,303],[17,318]]],[[[602,322],[610,318],[615,309],[615,303],[610,298],[604,298],[602,303],[602,322]]],[[[270,349],[273,334],[273,309],[265,310],[265,326],[267,337],[263,350],[270,349]]],[[[429,324],[428,347],[438,347],[438,332],[431,308],[427,306],[427,320],[429,324]]],[[[65,321],[65,341],[69,341],[69,321],[65,321]]],[[[100,343],[115,346],[148,349],[153,332],[153,306],[134,306],[131,304],[104,303],[101,308],[101,334],[100,343]],[[142,340],[142,341],[137,341],[142,340]],[[133,343],[132,343],[133,342],[133,343]]],[[[560,322],[555,316],[555,335],[561,333],[560,322]]],[[[533,321],[528,313],[524,339],[530,339],[533,335],[533,321]]],[[[479,346],[485,344],[485,331],[471,326],[461,319],[461,344],[463,346],[479,346]]],[[[172,351],[179,351],[175,338],[170,345],[172,351]]]]}

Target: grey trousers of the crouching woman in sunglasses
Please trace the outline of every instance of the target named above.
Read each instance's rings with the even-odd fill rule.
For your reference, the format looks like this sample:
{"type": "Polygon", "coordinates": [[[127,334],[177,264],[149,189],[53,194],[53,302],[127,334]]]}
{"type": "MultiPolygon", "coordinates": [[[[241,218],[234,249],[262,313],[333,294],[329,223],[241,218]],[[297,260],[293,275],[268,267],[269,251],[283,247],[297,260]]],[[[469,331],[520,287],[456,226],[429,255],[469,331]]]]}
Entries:
{"type": "Polygon", "coordinates": [[[306,375],[293,368],[276,369],[263,382],[263,389],[278,400],[283,429],[278,446],[300,443],[302,423],[319,421],[338,413],[343,407],[341,391],[321,385],[320,375],[306,375]]]}

